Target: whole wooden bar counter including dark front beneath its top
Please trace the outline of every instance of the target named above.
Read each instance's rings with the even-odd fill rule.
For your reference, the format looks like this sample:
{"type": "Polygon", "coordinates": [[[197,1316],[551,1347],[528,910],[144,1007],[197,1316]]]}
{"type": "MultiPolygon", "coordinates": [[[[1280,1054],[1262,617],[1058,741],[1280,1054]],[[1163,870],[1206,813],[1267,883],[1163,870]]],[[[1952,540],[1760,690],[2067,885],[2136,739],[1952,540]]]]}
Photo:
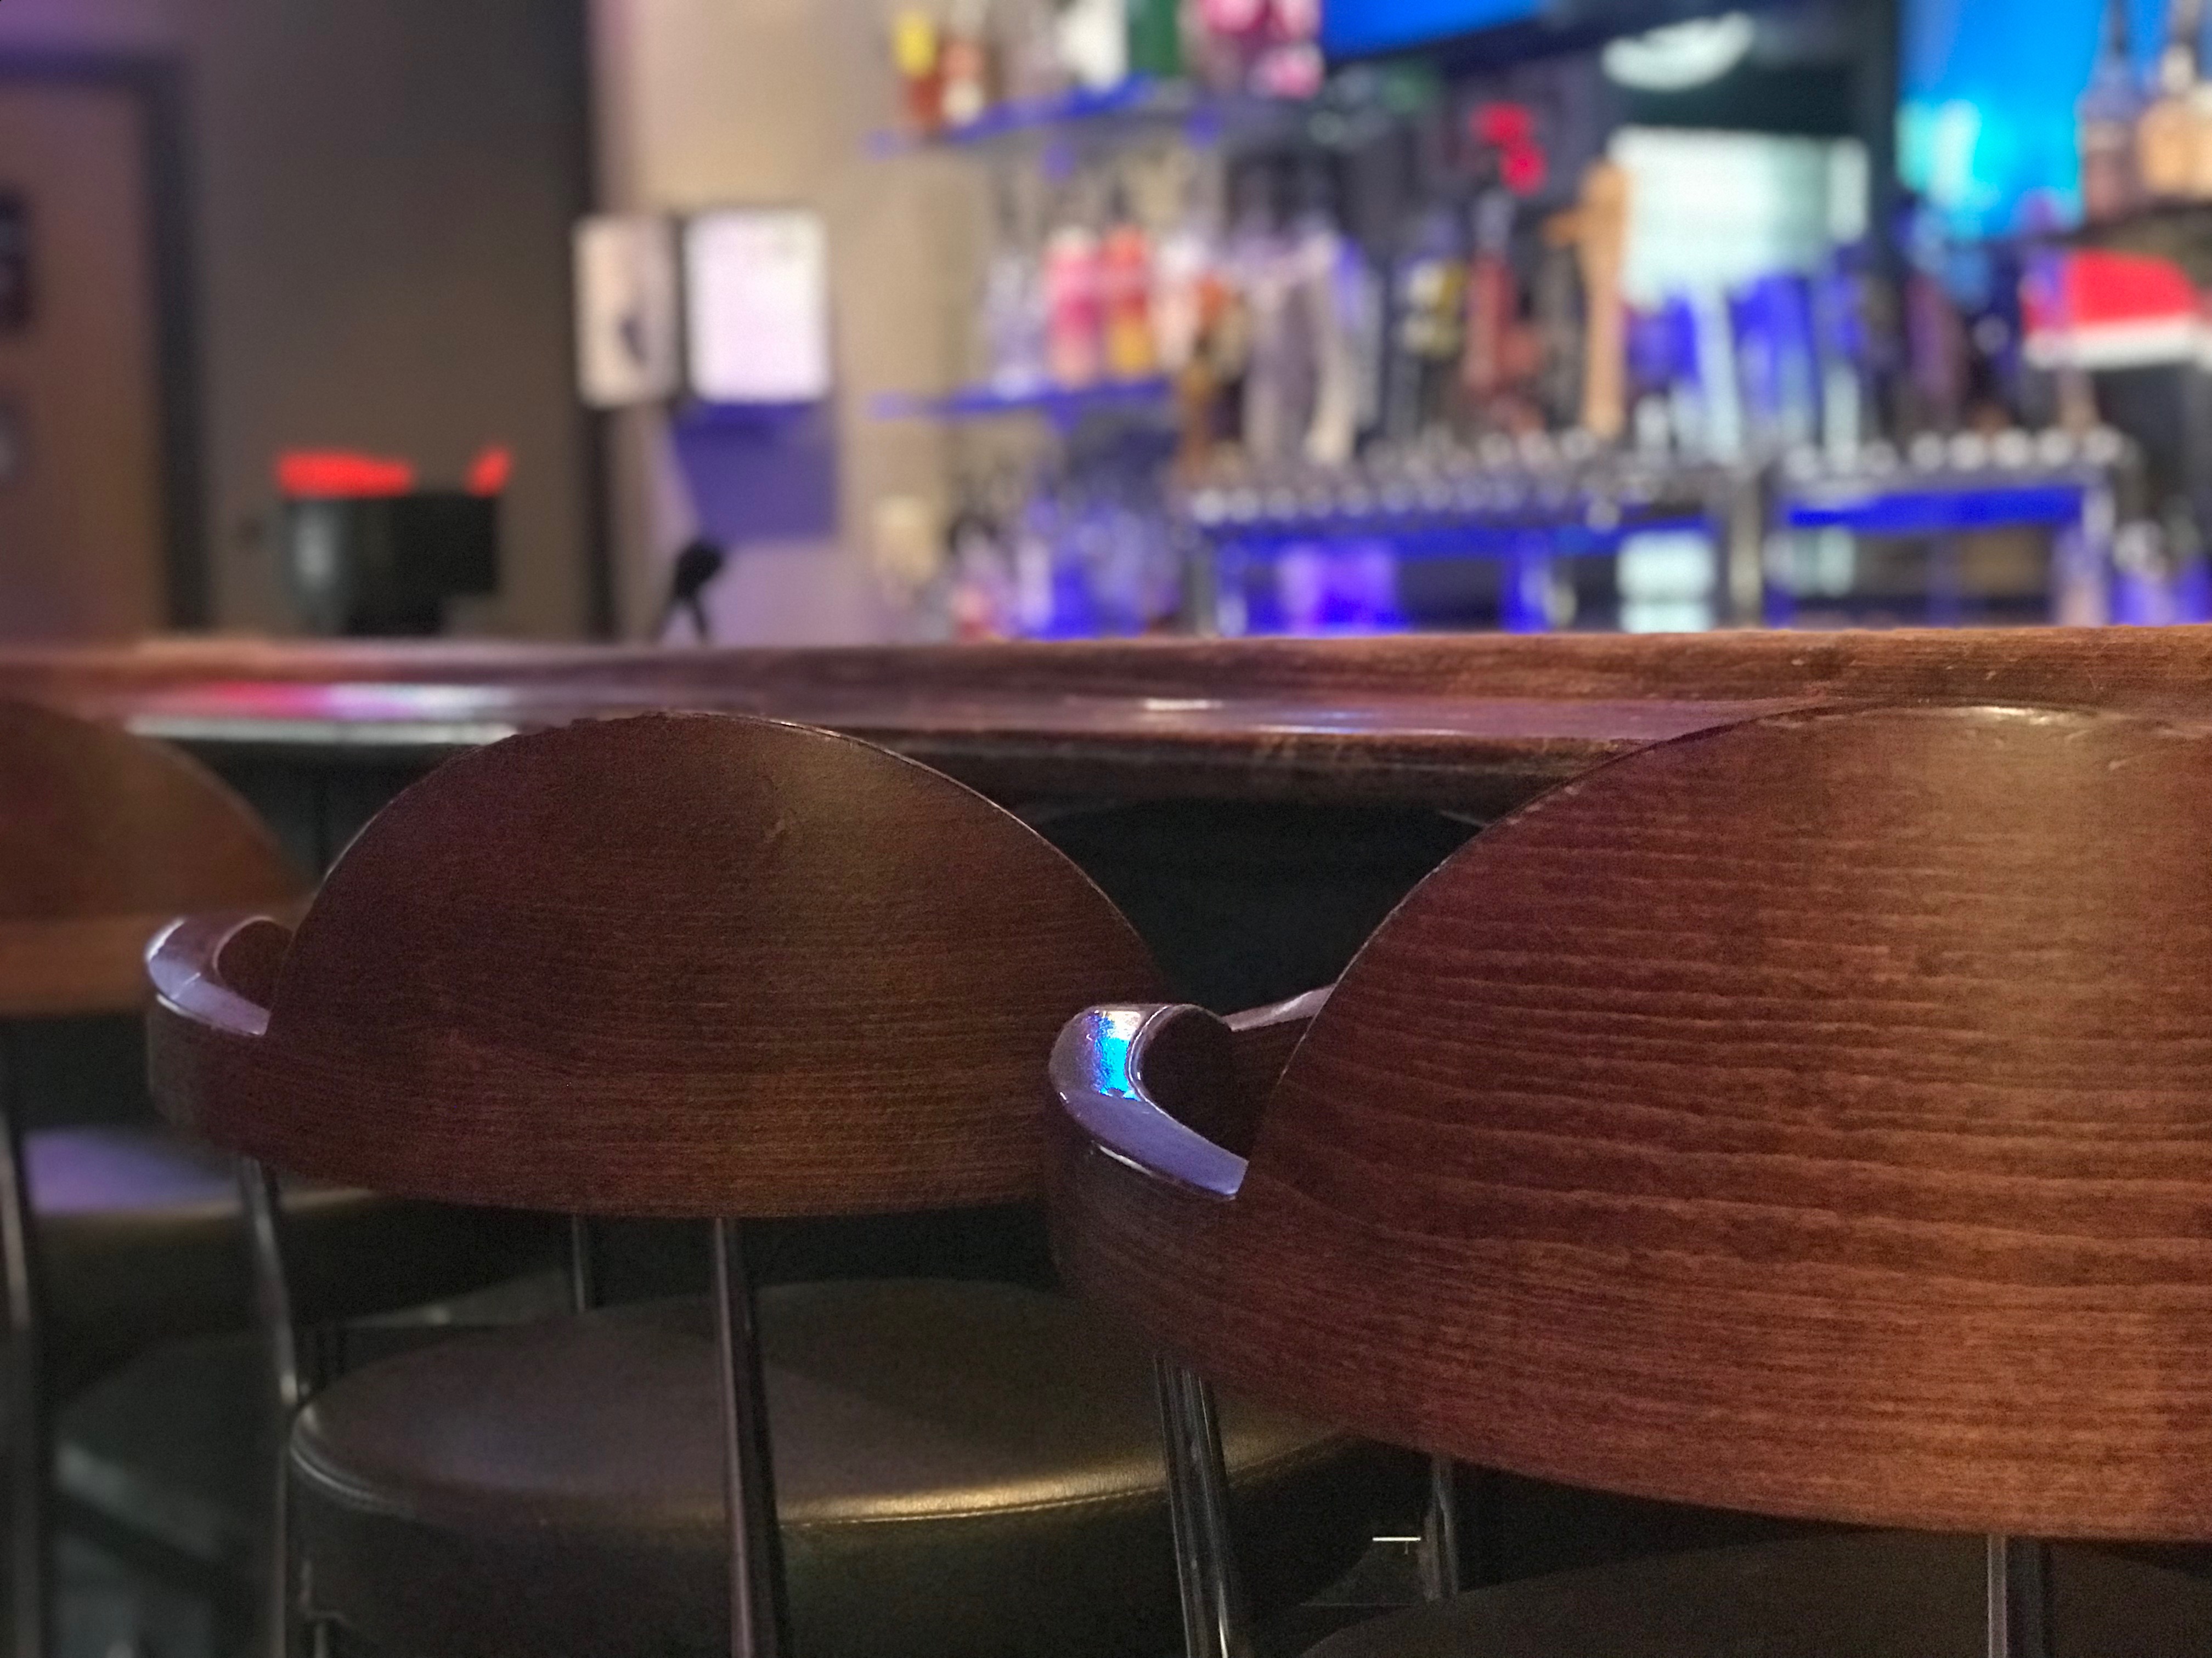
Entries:
{"type": "Polygon", "coordinates": [[[157,641],[0,652],[0,694],[197,749],[327,862],[458,749],[730,710],[885,743],[1046,827],[1192,999],[1332,977],[1475,827],[1765,712],[2033,703],[2212,718],[2212,628],[1128,641],[883,650],[157,641]]]}

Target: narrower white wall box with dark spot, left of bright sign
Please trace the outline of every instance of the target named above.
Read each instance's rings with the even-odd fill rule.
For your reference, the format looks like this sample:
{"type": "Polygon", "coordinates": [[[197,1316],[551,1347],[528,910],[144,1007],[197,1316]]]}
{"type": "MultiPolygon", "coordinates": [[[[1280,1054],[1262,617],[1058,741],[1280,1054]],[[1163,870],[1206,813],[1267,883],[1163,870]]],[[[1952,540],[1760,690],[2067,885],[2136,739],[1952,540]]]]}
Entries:
{"type": "Polygon", "coordinates": [[[684,389],[677,228],[602,214],[575,228],[575,371],[593,409],[659,402],[684,389]]]}

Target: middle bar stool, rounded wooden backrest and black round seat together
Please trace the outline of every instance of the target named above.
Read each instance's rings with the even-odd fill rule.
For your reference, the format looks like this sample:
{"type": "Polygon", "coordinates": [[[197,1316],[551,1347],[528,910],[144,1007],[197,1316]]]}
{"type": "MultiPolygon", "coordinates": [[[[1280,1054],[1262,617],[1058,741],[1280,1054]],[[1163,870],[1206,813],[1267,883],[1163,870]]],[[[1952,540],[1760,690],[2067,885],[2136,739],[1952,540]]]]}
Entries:
{"type": "MultiPolygon", "coordinates": [[[[314,1620],[440,1658],[1172,1645],[1144,1349],[1004,1284],[750,1276],[748,1222],[1040,1196],[1053,1035],[1157,975],[1013,816],[823,732],[586,723],[400,796],[296,935],[184,922],[150,973],[161,1108],[259,1165],[710,1222],[708,1304],[462,1337],[307,1402],[314,1620]]],[[[1256,1598],[1294,1603],[1360,1554],[1394,1461],[1225,1421],[1276,1539],[1256,1598]]]]}

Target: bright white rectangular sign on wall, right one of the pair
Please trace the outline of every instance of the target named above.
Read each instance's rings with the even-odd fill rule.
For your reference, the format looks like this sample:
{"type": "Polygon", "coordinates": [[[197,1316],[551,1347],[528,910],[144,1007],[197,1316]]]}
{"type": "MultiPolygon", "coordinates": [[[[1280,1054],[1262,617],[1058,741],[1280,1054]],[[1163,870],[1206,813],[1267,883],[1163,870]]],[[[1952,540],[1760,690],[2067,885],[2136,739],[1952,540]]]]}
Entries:
{"type": "Polygon", "coordinates": [[[717,208],[684,223],[692,396],[830,396],[830,239],[803,208],[717,208]]]}

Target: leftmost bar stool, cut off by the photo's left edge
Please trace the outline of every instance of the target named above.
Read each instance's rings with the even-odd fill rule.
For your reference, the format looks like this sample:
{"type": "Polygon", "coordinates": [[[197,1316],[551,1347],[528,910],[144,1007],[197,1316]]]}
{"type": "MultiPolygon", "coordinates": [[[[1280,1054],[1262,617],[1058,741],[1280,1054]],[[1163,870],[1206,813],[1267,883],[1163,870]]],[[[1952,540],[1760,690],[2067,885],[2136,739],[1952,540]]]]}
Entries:
{"type": "MultiPolygon", "coordinates": [[[[144,1092],[104,1110],[111,1121],[33,1121],[29,1026],[106,1015],[135,1041],[122,1021],[146,1004],[146,942],[179,906],[303,898],[259,820],[192,760],[113,727],[0,703],[0,1262],[15,1654],[46,1651],[60,1397],[157,1342],[252,1326],[228,1163],[161,1125],[144,1092]],[[131,1121],[133,1110],[144,1121],[131,1121]]],[[[330,1300],[341,1309],[445,1293],[456,1260],[416,1240],[482,1240],[480,1227],[458,1231],[451,1218],[354,1189],[307,1185],[294,1209],[301,1256],[336,1280],[330,1300]],[[407,1222],[405,1234],[392,1231],[394,1220],[407,1222]]]]}

